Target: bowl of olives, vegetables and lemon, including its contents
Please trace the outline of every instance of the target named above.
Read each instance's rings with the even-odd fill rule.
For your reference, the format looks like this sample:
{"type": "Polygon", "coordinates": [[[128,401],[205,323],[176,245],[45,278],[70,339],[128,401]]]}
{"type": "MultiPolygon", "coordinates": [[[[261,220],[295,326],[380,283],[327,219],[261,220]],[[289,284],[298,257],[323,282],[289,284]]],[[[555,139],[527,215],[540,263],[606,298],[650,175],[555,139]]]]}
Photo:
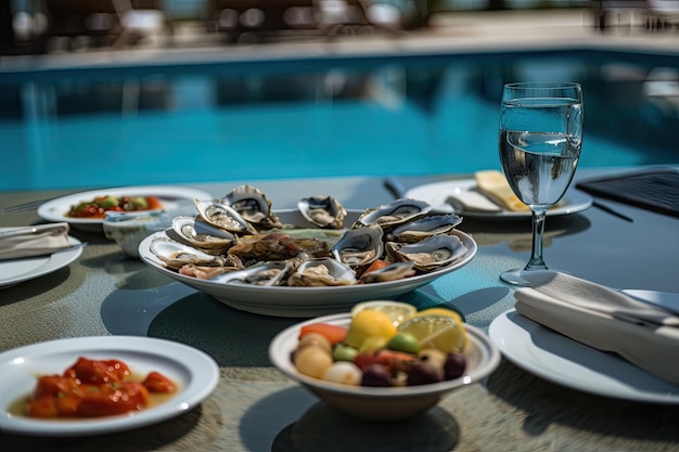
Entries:
{"type": "Polygon", "coordinates": [[[311,319],[279,333],[269,359],[346,414],[369,421],[409,418],[500,363],[500,352],[484,332],[436,312],[440,309],[433,311],[393,326],[379,313],[356,310],[311,319]]]}

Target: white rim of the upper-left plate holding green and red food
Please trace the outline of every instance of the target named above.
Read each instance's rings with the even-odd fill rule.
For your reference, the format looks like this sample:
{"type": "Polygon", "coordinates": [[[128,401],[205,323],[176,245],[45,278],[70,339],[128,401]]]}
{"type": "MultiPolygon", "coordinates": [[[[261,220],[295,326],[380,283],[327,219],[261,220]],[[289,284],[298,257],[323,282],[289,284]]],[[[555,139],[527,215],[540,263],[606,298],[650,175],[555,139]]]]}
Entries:
{"type": "MultiPolygon", "coordinates": [[[[117,186],[111,189],[90,190],[87,192],[73,193],[69,195],[61,196],[54,199],[50,199],[38,207],[38,216],[47,221],[68,222],[74,225],[101,225],[103,219],[101,218],[71,218],[65,214],[71,206],[80,202],[86,202],[94,198],[94,196],[112,195],[112,196],[158,196],[159,198],[166,197],[170,199],[189,199],[194,198],[212,199],[214,196],[202,190],[191,189],[188,186],[174,186],[174,185],[138,185],[138,186],[117,186]]],[[[167,201],[166,201],[167,203],[167,201]]],[[[171,206],[170,206],[171,207],[171,206]]],[[[168,209],[168,210],[171,210],[168,209]]]]}

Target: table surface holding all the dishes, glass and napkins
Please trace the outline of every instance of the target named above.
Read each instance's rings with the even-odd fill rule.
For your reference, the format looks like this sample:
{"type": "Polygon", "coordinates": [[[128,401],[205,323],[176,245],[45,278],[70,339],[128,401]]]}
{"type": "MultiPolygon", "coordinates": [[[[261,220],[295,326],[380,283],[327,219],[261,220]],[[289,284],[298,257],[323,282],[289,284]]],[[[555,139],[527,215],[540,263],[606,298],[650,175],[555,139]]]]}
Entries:
{"type": "MultiPolygon", "coordinates": [[[[580,168],[578,181],[641,167],[580,168]]],[[[399,176],[406,192],[473,175],[399,176]]],[[[394,199],[384,178],[230,180],[181,183],[220,197],[240,184],[267,194],[274,209],[332,195],[347,209],[394,199]]],[[[87,188],[91,190],[95,188],[87,188]]],[[[0,207],[82,191],[0,193],[0,207]]],[[[612,199],[549,216],[550,268],[615,289],[679,294],[679,218],[612,199]]],[[[0,215],[0,227],[44,222],[36,211],[0,215]]],[[[499,280],[530,255],[530,221],[464,217],[458,229],[478,246],[464,267],[397,297],[419,308],[446,306],[488,332],[514,306],[516,287],[499,280]]],[[[676,451],[677,398],[611,397],[530,372],[503,358],[481,382],[444,397],[417,417],[368,422],[345,415],[287,378],[268,358],[272,338],[302,319],[234,309],[121,253],[101,231],[72,228],[87,243],[71,264],[0,289],[0,352],[62,338],[141,336],[184,344],[219,366],[214,391],[195,408],[157,424],[87,436],[0,430],[1,451],[676,451]]],[[[348,311],[348,309],[347,309],[348,311]]],[[[678,350],[679,357],[679,350],[678,350]]],[[[2,375],[0,375],[0,380],[2,375]]],[[[563,378],[562,378],[563,379],[563,378]]],[[[633,393],[633,390],[630,390],[633,393]]],[[[679,391],[679,389],[678,389],[679,391]]],[[[4,408],[3,408],[4,409],[4,408]]]]}

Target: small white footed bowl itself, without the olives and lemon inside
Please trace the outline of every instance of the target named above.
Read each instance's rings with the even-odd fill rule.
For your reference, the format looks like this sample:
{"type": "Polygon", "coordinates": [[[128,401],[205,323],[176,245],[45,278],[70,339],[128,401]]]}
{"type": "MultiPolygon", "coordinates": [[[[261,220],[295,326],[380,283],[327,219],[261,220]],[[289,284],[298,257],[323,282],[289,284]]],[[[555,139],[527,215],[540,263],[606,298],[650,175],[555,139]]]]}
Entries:
{"type": "Polygon", "coordinates": [[[434,408],[448,392],[489,375],[500,363],[500,352],[481,330],[465,325],[466,370],[456,379],[420,386],[375,388],[325,382],[300,374],[291,357],[303,325],[325,322],[348,326],[349,313],[325,315],[297,323],[279,333],[269,345],[269,360],[283,374],[297,380],[319,399],[347,414],[369,421],[398,421],[434,408]]]}

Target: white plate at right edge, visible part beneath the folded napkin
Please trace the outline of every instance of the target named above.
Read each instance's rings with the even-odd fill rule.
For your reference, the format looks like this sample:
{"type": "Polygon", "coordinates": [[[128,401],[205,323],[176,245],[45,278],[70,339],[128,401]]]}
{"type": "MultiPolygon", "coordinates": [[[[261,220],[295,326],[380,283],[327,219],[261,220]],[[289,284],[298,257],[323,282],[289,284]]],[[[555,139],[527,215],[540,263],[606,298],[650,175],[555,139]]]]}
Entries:
{"type": "MultiPolygon", "coordinates": [[[[677,294],[670,295],[679,301],[677,294]]],[[[552,383],[615,399],[679,403],[678,386],[613,353],[555,333],[513,309],[495,319],[488,334],[507,359],[552,383]]]]}

